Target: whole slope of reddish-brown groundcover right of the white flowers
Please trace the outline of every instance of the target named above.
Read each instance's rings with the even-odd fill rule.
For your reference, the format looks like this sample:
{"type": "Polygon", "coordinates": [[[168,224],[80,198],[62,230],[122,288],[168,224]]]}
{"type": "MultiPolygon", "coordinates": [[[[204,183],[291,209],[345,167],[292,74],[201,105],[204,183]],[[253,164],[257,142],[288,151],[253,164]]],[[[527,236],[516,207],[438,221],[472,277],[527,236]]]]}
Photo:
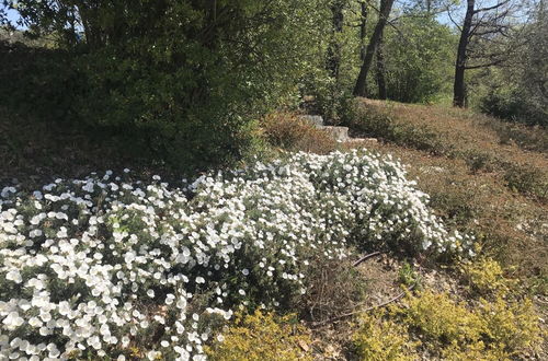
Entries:
{"type": "Polygon", "coordinates": [[[409,165],[432,206],[546,292],[548,131],[470,110],[362,100],[350,126],[409,165]],[[540,281],[543,280],[543,281],[540,281]]]}

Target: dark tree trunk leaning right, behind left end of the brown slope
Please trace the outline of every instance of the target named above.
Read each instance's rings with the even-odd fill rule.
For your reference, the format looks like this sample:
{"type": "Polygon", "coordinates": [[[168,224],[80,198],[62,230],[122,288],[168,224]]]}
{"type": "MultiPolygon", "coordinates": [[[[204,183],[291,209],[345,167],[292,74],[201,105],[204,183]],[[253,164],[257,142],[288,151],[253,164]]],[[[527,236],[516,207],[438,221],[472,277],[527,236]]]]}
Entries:
{"type": "Polygon", "coordinates": [[[377,45],[383,37],[383,31],[385,30],[386,23],[388,22],[388,16],[392,10],[393,0],[380,0],[380,12],[378,14],[378,21],[375,25],[375,31],[373,32],[369,44],[365,51],[364,62],[359,69],[359,74],[357,75],[356,85],[354,86],[353,94],[355,96],[367,96],[367,73],[372,67],[373,56],[377,45]]]}

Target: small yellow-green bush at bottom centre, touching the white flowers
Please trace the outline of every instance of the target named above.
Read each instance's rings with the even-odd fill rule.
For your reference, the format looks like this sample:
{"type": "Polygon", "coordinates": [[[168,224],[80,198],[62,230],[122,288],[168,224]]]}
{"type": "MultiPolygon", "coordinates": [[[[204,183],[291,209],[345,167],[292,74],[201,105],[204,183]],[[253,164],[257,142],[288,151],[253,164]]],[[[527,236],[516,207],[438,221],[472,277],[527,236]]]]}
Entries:
{"type": "Polygon", "coordinates": [[[210,360],[312,360],[310,337],[295,316],[274,317],[273,314],[238,314],[235,324],[206,347],[210,360]]]}

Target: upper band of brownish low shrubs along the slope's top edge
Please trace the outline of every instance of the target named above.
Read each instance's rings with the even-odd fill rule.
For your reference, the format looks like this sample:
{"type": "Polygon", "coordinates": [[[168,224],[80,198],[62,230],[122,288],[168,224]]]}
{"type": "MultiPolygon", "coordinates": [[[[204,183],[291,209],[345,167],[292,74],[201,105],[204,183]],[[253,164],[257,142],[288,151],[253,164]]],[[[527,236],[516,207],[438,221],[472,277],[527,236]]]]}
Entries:
{"type": "Polygon", "coordinates": [[[463,160],[472,174],[495,173],[507,188],[546,202],[546,130],[515,131],[494,118],[443,107],[363,101],[346,121],[351,133],[378,137],[404,148],[463,160]],[[507,133],[521,139],[501,144],[507,133]],[[533,149],[529,152],[524,150],[533,149]]]}

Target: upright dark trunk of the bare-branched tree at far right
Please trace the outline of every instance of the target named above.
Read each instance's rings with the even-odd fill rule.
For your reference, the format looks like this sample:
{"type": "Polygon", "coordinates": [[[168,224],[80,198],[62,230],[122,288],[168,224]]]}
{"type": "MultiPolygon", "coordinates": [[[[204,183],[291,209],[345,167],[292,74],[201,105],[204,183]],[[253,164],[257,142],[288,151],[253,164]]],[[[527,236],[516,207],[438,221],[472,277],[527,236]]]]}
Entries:
{"type": "Polygon", "coordinates": [[[475,0],[467,1],[465,22],[463,24],[463,31],[460,32],[460,39],[458,42],[457,61],[455,62],[453,105],[459,107],[466,106],[466,84],[465,84],[465,70],[467,60],[466,49],[468,47],[468,42],[470,39],[470,30],[472,26],[475,5],[476,5],[475,0]]]}

